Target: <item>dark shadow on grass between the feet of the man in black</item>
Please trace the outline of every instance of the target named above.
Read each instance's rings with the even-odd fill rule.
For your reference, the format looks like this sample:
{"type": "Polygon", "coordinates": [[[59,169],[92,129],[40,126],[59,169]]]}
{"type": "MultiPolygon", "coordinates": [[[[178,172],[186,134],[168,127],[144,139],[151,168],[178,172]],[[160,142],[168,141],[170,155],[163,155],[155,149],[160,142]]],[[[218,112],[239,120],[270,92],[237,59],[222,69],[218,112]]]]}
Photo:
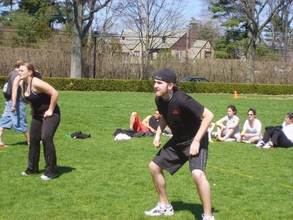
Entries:
{"type": "MultiPolygon", "coordinates": [[[[192,214],[195,216],[196,220],[202,220],[202,204],[194,204],[194,203],[183,203],[182,201],[177,201],[177,202],[171,202],[174,211],[179,211],[179,210],[189,210],[192,212],[192,214]]],[[[219,212],[219,210],[215,210],[212,208],[212,213],[219,212]]]]}

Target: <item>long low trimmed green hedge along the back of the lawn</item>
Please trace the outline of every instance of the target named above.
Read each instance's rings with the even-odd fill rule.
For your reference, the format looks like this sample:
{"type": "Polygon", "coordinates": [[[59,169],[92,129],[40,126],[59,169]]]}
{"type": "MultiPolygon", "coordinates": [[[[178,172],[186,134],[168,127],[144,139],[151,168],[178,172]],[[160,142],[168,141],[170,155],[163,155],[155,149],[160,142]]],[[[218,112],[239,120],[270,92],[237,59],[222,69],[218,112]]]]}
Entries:
{"type": "MultiPolygon", "coordinates": [[[[7,76],[0,76],[2,88],[7,76]]],[[[44,78],[57,90],[78,91],[129,91],[154,92],[154,82],[148,80],[106,80],[44,78]]],[[[292,95],[293,85],[232,84],[232,83],[180,83],[180,90],[186,93],[237,93],[263,95],[292,95]]]]}

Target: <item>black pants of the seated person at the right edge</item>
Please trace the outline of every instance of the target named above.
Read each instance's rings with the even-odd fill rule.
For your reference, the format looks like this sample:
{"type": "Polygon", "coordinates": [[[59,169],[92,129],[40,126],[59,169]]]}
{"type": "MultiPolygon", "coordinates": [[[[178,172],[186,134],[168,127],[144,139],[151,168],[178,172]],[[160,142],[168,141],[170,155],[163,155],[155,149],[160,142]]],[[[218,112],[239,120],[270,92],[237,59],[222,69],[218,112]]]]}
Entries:
{"type": "Polygon", "coordinates": [[[268,128],[263,134],[262,141],[267,143],[270,138],[276,147],[282,146],[288,148],[293,146],[292,141],[288,139],[281,128],[268,128]]]}

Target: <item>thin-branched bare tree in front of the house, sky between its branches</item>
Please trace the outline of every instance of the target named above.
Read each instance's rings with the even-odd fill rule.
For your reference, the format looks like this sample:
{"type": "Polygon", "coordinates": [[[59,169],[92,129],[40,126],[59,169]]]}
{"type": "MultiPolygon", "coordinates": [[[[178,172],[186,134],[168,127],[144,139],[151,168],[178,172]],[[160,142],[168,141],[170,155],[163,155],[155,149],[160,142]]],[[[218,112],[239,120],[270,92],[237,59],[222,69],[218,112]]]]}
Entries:
{"type": "Polygon", "coordinates": [[[163,43],[158,38],[174,35],[186,23],[182,15],[186,1],[127,0],[124,6],[124,24],[137,34],[142,48],[139,79],[146,79],[149,54],[163,43]]]}

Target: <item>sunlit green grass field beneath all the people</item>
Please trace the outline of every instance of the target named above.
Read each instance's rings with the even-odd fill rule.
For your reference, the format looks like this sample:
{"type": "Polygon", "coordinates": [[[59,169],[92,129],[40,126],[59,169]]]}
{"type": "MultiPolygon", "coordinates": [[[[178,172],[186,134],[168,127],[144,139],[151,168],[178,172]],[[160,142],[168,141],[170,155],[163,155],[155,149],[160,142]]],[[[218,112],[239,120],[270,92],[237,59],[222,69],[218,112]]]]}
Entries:
{"type": "MultiPolygon", "coordinates": [[[[236,105],[240,127],[247,110],[257,110],[263,127],[279,125],[293,111],[293,96],[191,94],[209,108],[214,121],[236,105]]],[[[185,164],[174,176],[165,173],[175,214],[146,217],[158,202],[148,163],[158,149],[152,137],[114,141],[116,128],[129,128],[132,111],[153,114],[154,94],[61,91],[61,124],[54,141],[60,176],[40,180],[42,173],[21,176],[27,167],[24,136],[5,130],[0,148],[0,219],[201,219],[202,206],[185,164]],[[65,137],[76,131],[88,139],[65,137]]],[[[4,99],[0,96],[0,112],[4,99]]],[[[29,124],[31,117],[28,117],[29,124]]],[[[168,137],[163,136],[165,143],[168,137]]],[[[44,169],[41,152],[40,169],[44,169]]],[[[293,219],[293,148],[256,149],[253,145],[214,142],[209,145],[206,175],[217,220],[293,219]]]]}

